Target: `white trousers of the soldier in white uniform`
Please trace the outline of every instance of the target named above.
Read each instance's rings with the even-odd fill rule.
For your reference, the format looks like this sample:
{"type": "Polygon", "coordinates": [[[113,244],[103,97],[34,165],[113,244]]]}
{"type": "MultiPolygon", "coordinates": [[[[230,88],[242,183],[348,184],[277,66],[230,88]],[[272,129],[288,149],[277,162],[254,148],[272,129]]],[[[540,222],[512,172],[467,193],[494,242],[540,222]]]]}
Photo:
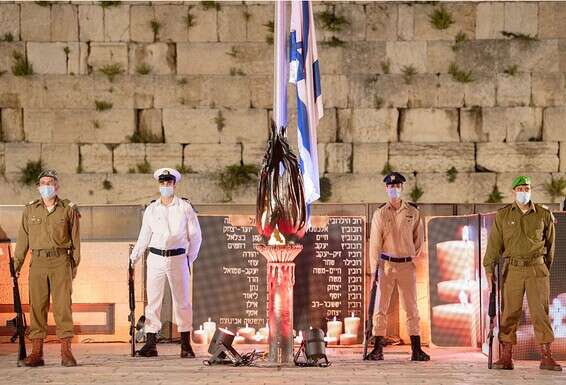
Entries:
{"type": "Polygon", "coordinates": [[[147,257],[147,306],[145,308],[145,332],[161,330],[161,305],[169,281],[173,299],[173,317],[179,332],[191,331],[193,308],[189,292],[189,266],[186,255],[162,257],[149,253],[147,257]]]}

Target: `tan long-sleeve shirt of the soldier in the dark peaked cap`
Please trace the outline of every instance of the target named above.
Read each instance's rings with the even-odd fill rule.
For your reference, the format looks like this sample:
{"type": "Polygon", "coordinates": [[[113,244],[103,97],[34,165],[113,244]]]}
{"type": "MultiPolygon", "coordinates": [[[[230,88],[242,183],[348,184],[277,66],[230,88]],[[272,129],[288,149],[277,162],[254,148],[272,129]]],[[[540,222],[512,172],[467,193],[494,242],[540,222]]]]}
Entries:
{"type": "Polygon", "coordinates": [[[369,238],[371,274],[385,253],[391,257],[415,257],[423,247],[424,229],[421,213],[411,204],[401,201],[398,210],[386,203],[373,213],[369,238]]]}

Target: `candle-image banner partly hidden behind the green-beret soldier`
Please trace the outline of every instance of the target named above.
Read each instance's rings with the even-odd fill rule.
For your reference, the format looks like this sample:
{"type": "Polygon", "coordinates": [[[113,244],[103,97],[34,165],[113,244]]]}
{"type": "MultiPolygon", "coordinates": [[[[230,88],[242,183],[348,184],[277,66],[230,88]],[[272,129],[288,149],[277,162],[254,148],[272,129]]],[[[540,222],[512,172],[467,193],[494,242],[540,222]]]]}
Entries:
{"type": "MultiPolygon", "coordinates": [[[[550,269],[550,322],[554,331],[554,342],[552,343],[553,356],[557,360],[566,359],[566,212],[554,212],[556,218],[556,238],[554,262],[550,269]]],[[[481,244],[482,262],[487,246],[487,238],[491,226],[495,220],[495,213],[481,215],[481,244]],[[485,238],[485,241],[484,241],[485,238]]],[[[489,332],[489,317],[487,315],[489,305],[489,289],[485,273],[482,269],[482,318],[483,318],[483,340],[486,341],[489,332]]],[[[498,314],[500,301],[498,301],[498,314]]],[[[497,329],[494,339],[494,357],[497,357],[497,329]]],[[[487,343],[483,344],[483,351],[487,354],[487,343]]],[[[540,348],[535,340],[531,315],[529,312],[526,296],[523,299],[523,315],[517,328],[517,345],[513,347],[513,357],[523,360],[540,359],[540,348]]]]}

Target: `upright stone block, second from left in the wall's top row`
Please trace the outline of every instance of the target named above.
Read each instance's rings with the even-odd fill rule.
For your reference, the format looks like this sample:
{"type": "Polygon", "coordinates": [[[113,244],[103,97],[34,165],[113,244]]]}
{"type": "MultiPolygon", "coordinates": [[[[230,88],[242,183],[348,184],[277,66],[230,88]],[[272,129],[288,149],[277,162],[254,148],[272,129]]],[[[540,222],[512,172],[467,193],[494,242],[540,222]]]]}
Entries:
{"type": "Polygon", "coordinates": [[[22,3],[20,27],[24,41],[50,41],[51,5],[43,7],[31,1],[22,3]]]}

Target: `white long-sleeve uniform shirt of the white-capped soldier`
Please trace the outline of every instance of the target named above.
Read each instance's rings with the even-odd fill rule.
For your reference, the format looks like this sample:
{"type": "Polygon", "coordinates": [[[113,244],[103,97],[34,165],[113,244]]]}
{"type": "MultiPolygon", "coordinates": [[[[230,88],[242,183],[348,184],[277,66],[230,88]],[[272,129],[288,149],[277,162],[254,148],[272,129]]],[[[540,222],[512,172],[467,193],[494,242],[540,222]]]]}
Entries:
{"type": "Polygon", "coordinates": [[[171,204],[165,206],[158,199],[145,209],[138,241],[130,259],[139,260],[148,247],[185,249],[192,264],[198,256],[201,242],[200,225],[191,204],[174,197],[171,204]]]}

